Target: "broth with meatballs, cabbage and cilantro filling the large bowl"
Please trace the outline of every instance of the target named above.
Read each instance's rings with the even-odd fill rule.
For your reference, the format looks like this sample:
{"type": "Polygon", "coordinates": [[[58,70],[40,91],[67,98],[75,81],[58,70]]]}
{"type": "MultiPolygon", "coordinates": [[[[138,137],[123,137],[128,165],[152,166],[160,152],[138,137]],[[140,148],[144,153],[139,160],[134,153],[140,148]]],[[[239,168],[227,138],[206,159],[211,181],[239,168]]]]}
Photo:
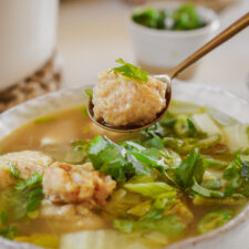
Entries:
{"type": "Polygon", "coordinates": [[[160,248],[224,226],[249,196],[248,125],[181,102],[132,135],[63,110],[0,151],[0,235],[44,248],[160,248]]]}

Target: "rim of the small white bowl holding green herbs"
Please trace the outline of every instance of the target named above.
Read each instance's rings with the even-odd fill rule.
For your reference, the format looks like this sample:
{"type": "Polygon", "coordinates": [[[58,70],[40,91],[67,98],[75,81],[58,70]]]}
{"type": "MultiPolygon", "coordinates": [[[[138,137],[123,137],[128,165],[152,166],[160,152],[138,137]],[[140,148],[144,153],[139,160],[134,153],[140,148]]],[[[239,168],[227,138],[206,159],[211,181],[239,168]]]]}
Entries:
{"type": "MultiPolygon", "coordinates": [[[[183,2],[180,2],[180,1],[167,1],[167,2],[154,1],[151,3],[144,3],[138,7],[135,7],[135,10],[144,10],[149,7],[168,9],[168,8],[176,8],[180,4],[183,4],[183,2]]],[[[210,17],[210,18],[208,18],[208,19],[210,19],[210,21],[208,21],[208,23],[205,27],[199,28],[199,29],[174,31],[174,30],[158,30],[158,29],[154,29],[154,28],[144,27],[144,25],[138,24],[135,21],[133,21],[132,14],[133,14],[134,9],[132,9],[128,13],[128,17],[127,17],[128,25],[131,27],[131,29],[134,29],[134,31],[143,32],[144,34],[147,34],[147,35],[153,35],[153,37],[158,37],[158,38],[173,38],[173,39],[174,38],[178,39],[178,38],[201,37],[207,33],[217,31],[220,27],[220,21],[219,21],[218,14],[210,8],[207,8],[207,7],[204,7],[200,4],[196,4],[196,7],[198,10],[200,10],[203,12],[203,15],[210,17]]]]}

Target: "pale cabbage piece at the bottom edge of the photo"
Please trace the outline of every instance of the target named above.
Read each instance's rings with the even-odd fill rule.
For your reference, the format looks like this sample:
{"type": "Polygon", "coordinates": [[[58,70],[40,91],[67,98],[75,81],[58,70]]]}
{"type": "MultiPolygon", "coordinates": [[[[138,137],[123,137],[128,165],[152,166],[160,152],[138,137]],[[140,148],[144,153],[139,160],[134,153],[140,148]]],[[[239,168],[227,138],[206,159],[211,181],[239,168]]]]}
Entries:
{"type": "Polygon", "coordinates": [[[80,231],[62,236],[60,249],[147,249],[138,238],[115,230],[80,231]]]}

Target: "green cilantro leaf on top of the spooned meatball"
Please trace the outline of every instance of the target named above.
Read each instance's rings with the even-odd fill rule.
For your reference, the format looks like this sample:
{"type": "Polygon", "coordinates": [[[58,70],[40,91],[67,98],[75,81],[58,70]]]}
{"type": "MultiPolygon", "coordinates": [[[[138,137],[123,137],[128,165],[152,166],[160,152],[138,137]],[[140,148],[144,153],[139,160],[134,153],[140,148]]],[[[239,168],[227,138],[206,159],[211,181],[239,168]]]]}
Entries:
{"type": "Polygon", "coordinates": [[[127,63],[121,58],[117,59],[116,62],[123,65],[113,68],[114,73],[121,73],[124,76],[132,77],[142,82],[148,81],[147,72],[142,71],[139,66],[127,63]]]}

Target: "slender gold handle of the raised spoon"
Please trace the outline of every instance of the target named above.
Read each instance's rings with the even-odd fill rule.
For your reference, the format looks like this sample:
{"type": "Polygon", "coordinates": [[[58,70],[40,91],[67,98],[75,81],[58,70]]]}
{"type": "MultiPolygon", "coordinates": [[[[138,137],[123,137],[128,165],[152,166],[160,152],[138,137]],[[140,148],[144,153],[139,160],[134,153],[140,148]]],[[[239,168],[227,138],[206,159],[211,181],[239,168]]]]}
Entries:
{"type": "Polygon", "coordinates": [[[239,31],[247,28],[248,25],[249,25],[249,12],[246,13],[242,18],[240,18],[236,22],[234,22],[230,27],[228,27],[226,30],[224,30],[221,33],[215,37],[207,44],[197,50],[194,54],[188,56],[180,64],[178,64],[172,72],[168,73],[170,80],[176,77],[181,71],[187,69],[189,65],[198,61],[200,58],[206,55],[208,52],[210,52],[218,45],[222,44],[224,42],[236,35],[239,31]]]}

